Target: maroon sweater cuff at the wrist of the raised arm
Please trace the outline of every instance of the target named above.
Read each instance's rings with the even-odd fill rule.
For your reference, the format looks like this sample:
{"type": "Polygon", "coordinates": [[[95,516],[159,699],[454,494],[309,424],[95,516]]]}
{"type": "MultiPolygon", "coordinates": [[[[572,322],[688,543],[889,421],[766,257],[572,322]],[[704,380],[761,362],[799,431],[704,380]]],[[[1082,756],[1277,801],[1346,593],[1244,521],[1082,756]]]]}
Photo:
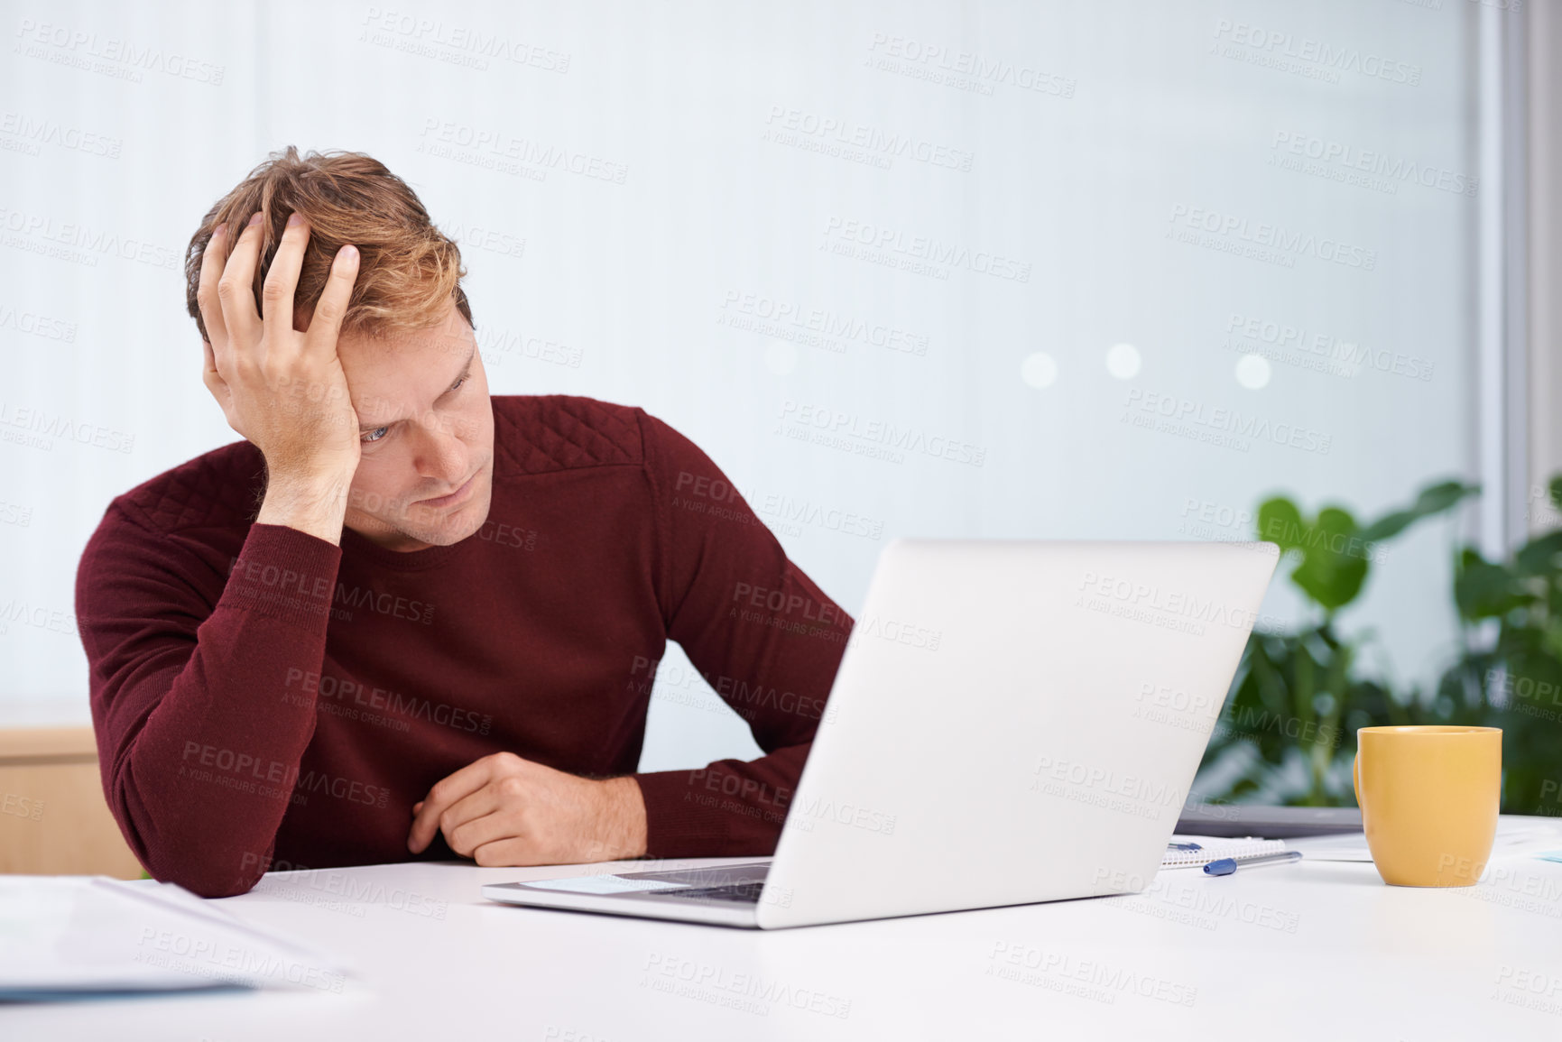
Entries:
{"type": "Polygon", "coordinates": [[[287,525],[250,525],[217,609],[250,611],[316,630],[331,614],[342,548],[287,525]]]}

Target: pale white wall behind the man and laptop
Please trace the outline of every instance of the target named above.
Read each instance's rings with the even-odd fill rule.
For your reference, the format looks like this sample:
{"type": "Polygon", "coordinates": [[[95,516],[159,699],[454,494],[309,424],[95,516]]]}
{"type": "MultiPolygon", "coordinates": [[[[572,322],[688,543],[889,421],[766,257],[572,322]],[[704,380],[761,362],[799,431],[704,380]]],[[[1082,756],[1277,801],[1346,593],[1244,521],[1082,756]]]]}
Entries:
{"type": "MultiPolygon", "coordinates": [[[[233,439],[198,378],[181,252],[205,209],[287,144],[372,153],[464,244],[495,394],[639,403],[756,505],[883,522],[879,539],[779,530],[851,611],[895,534],[1242,537],[1189,522],[1273,491],[1371,516],[1471,467],[1476,208],[1459,189],[1476,173],[1473,3],[386,9],[3,5],[6,720],[84,719],[69,620],[81,545],[112,495],[233,439]],[[473,52],[495,36],[503,55],[473,52]],[[965,62],[979,69],[940,67],[965,62]],[[783,137],[792,119],[868,145],[783,137]],[[909,147],[886,156],[886,139],[909,147]],[[1432,184],[1353,183],[1337,159],[1287,169],[1306,162],[1287,142],[1382,153],[1432,184]],[[622,183],[570,172],[576,159],[622,183]],[[862,250],[859,228],[887,236],[883,256],[837,253],[862,250]],[[1295,248],[1228,252],[1267,234],[1295,248]],[[961,258],[900,267],[922,241],[961,258]],[[925,355],[754,333],[733,303],[748,295],[925,337],[925,355]],[[1326,359],[1295,350],[1243,362],[1254,345],[1228,347],[1232,316],[1400,355],[1429,378],[1318,370],[1326,359]],[[547,361],[542,342],[578,364],[547,361]],[[1153,395],[1282,441],[1300,428],[1315,450],[1125,422],[1153,395]],[[131,450],[28,433],[22,409],[131,450]],[[789,437],[804,409],[953,439],[981,466],[789,437]]],[[[1295,612],[1284,583],[1268,608],[1295,612]]],[[[1446,533],[1396,544],[1354,620],[1382,634],[1398,673],[1434,673],[1453,633],[1446,533]]],[[[665,697],[670,667],[644,765],[751,753],[714,695],[665,697]]]]}

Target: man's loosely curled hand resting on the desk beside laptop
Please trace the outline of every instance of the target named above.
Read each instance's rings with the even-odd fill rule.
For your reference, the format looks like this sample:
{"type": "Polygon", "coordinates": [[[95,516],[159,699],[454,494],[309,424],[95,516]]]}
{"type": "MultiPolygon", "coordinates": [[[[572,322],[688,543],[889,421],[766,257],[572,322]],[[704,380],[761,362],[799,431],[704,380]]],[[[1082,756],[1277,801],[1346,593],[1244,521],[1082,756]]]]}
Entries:
{"type": "Polygon", "coordinates": [[[622,861],[645,853],[645,800],[634,778],[597,781],[494,753],[412,806],[408,850],[422,853],[436,833],[480,865],[622,861]]]}

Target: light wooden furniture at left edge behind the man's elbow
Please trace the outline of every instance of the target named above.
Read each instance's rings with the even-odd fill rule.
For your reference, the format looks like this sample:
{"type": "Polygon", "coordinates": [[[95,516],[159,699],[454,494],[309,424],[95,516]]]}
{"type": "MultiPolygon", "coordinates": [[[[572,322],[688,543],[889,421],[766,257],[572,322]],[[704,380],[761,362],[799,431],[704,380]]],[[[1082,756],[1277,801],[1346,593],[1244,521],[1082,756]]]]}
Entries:
{"type": "Polygon", "coordinates": [[[0,730],[0,872],[139,880],[89,726],[0,730]]]}

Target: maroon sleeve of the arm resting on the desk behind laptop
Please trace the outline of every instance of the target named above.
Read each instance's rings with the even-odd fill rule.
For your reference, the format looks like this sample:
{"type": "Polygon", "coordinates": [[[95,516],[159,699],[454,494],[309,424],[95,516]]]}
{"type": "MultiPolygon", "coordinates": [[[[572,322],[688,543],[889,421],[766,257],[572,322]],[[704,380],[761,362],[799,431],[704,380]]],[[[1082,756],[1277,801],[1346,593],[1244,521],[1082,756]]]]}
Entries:
{"type": "Polygon", "coordinates": [[[787,559],[694,442],[644,412],[640,426],[667,636],[765,751],[747,762],[636,775],[647,855],[769,855],[826,711],[851,617],[787,559]]]}

